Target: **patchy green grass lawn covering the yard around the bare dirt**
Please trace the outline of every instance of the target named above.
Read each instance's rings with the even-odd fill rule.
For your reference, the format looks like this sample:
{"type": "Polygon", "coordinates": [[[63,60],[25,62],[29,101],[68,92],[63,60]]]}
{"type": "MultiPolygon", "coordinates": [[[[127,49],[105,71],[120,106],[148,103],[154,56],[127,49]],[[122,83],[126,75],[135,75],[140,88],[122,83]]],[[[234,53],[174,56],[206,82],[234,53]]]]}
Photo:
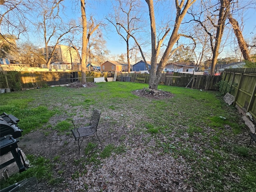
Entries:
{"type": "MultiPolygon", "coordinates": [[[[122,128],[126,134],[118,132],[111,141],[106,136],[101,150],[96,142],[88,144],[84,160],[94,164],[95,171],[111,156],[124,156],[135,148],[137,141],[133,138],[143,135],[140,144],[145,152],[161,158],[168,156],[189,167],[183,182],[194,191],[256,190],[256,145],[247,147],[250,139],[238,110],[228,106],[219,92],[159,85],[158,89],[171,92],[174,97],[154,100],[132,94],[144,87],[148,84],[106,82],[90,88],[49,87],[11,92],[0,95],[0,112],[20,118],[22,135],[32,130],[42,130],[45,135],[57,130],[60,135],[70,136],[71,120],[88,117],[93,108],[98,108],[102,121],[108,117],[109,127],[104,134],[115,134],[115,128],[122,128]],[[60,121],[59,116],[65,119],[60,121]]],[[[39,182],[48,181],[53,186],[58,183],[52,181],[48,169],[54,172],[59,156],[40,160],[36,154],[30,155],[34,168],[29,169],[33,171],[28,169],[22,176],[1,182],[1,188],[26,178],[26,174],[37,175],[39,182]],[[46,160],[52,166],[38,174],[37,166],[46,160]]],[[[72,179],[79,176],[74,172],[72,179]]],[[[84,187],[90,189],[90,184],[84,187]]]]}

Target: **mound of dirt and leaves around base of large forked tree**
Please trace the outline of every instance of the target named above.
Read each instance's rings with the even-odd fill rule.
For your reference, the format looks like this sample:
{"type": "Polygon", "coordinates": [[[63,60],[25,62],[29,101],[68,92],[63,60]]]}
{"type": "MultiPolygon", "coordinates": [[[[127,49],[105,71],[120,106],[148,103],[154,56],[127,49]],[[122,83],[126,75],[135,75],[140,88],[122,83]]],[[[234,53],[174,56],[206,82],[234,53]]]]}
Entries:
{"type": "Polygon", "coordinates": [[[144,88],[141,90],[136,90],[132,92],[134,95],[146,98],[153,98],[153,99],[166,99],[166,98],[173,98],[174,94],[162,91],[162,90],[154,90],[149,88],[144,88]]]}

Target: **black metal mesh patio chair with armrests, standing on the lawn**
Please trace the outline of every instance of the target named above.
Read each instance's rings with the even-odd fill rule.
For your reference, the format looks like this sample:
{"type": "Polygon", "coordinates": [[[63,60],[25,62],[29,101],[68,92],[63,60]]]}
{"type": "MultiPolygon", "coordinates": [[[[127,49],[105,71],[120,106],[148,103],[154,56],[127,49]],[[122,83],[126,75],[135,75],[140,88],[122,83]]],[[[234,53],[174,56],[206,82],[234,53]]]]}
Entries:
{"type": "Polygon", "coordinates": [[[91,136],[93,134],[96,134],[98,141],[101,144],[101,141],[97,135],[97,127],[100,120],[100,111],[97,109],[93,109],[92,116],[90,118],[90,123],[86,125],[86,119],[77,119],[72,120],[72,123],[74,125],[74,129],[72,129],[72,134],[75,138],[75,141],[78,141],[78,147],[79,147],[79,154],[80,154],[80,146],[82,144],[82,141],[84,137],[91,136]],[[80,139],[82,139],[80,141],[80,139]]]}

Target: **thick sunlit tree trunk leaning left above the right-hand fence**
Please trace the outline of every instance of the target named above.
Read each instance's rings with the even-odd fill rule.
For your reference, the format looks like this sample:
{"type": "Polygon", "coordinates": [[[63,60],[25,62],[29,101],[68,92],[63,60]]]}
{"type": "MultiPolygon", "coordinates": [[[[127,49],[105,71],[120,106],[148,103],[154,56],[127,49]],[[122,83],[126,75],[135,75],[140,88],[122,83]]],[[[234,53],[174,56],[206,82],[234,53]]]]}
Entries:
{"type": "Polygon", "coordinates": [[[232,25],[232,28],[234,30],[234,34],[236,35],[238,45],[240,47],[240,50],[241,50],[242,55],[244,57],[244,60],[251,61],[249,50],[248,50],[248,45],[244,40],[244,36],[242,35],[242,32],[240,30],[240,27],[239,27],[239,24],[238,24],[237,20],[232,17],[232,14],[230,13],[230,11],[228,11],[228,19],[229,19],[230,24],[232,25]]]}

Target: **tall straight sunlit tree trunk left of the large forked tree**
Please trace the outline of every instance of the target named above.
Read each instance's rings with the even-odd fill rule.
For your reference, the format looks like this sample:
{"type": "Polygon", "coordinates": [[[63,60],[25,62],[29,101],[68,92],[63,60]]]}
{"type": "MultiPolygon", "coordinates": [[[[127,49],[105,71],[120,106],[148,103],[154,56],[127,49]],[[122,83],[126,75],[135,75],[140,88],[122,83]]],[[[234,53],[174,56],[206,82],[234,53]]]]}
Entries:
{"type": "Polygon", "coordinates": [[[81,83],[86,82],[86,48],[87,48],[87,20],[85,13],[85,2],[81,1],[81,13],[82,13],[82,24],[83,24],[83,36],[82,36],[82,57],[81,57],[81,67],[82,67],[82,80],[81,83]]]}

